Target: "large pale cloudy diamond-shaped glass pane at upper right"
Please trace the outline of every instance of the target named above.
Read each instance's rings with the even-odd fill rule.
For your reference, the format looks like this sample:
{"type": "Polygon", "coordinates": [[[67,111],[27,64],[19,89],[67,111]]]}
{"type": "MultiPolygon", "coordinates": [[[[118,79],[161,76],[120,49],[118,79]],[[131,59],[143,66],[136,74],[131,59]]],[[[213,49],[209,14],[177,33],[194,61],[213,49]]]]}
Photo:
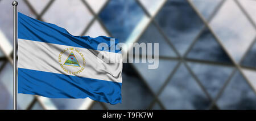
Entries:
{"type": "Polygon", "coordinates": [[[226,1],[210,25],[236,62],[240,61],[256,35],[234,1],[226,1]]]}

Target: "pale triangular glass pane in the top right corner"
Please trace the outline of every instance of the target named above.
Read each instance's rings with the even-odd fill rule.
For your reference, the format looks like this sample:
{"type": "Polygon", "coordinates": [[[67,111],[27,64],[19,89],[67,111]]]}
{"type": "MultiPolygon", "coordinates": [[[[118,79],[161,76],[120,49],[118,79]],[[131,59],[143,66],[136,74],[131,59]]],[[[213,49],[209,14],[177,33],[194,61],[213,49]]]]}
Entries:
{"type": "Polygon", "coordinates": [[[250,18],[254,20],[254,23],[256,23],[256,1],[254,0],[247,0],[247,1],[238,1],[241,3],[243,8],[246,10],[246,12],[250,15],[250,18]]]}

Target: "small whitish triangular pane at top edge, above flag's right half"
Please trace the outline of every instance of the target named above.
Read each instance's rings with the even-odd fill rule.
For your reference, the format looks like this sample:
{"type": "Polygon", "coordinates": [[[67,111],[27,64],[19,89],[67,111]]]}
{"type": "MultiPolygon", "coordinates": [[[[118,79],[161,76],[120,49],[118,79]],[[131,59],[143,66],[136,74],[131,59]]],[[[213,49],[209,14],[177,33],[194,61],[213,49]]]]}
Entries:
{"type": "Polygon", "coordinates": [[[107,0],[85,0],[94,12],[99,12],[101,7],[107,2],[107,0]]]}

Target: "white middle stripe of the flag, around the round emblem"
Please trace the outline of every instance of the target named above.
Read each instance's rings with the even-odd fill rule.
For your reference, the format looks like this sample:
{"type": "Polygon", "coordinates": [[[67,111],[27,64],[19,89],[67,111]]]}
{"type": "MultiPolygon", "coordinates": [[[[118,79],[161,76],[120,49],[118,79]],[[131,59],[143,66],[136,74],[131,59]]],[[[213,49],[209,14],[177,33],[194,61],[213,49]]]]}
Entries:
{"type": "MultiPolygon", "coordinates": [[[[84,55],[85,66],[80,74],[68,74],[61,68],[59,63],[59,55],[65,48],[72,46],[49,44],[39,41],[30,41],[18,39],[18,67],[26,68],[36,71],[52,72],[56,74],[73,75],[80,77],[87,77],[98,80],[114,81],[122,83],[122,54],[110,53],[108,51],[99,51],[92,49],[85,49],[81,47],[73,47],[81,51],[84,55]],[[98,53],[110,55],[111,58],[117,58],[116,63],[104,63],[97,58],[98,53]]],[[[71,51],[71,50],[68,50],[71,51]]],[[[68,58],[69,52],[66,51],[61,58],[68,58]],[[68,53],[68,54],[67,54],[68,53]]],[[[73,51],[75,54],[75,51],[73,51]]],[[[79,64],[82,67],[82,57],[80,54],[75,54],[79,64]]],[[[105,57],[106,58],[106,57],[105,57]]],[[[62,59],[61,63],[64,64],[66,59],[62,59]]],[[[73,68],[74,70],[79,67],[64,66],[65,68],[73,68]]],[[[79,70],[79,69],[77,69],[79,70]]]]}

